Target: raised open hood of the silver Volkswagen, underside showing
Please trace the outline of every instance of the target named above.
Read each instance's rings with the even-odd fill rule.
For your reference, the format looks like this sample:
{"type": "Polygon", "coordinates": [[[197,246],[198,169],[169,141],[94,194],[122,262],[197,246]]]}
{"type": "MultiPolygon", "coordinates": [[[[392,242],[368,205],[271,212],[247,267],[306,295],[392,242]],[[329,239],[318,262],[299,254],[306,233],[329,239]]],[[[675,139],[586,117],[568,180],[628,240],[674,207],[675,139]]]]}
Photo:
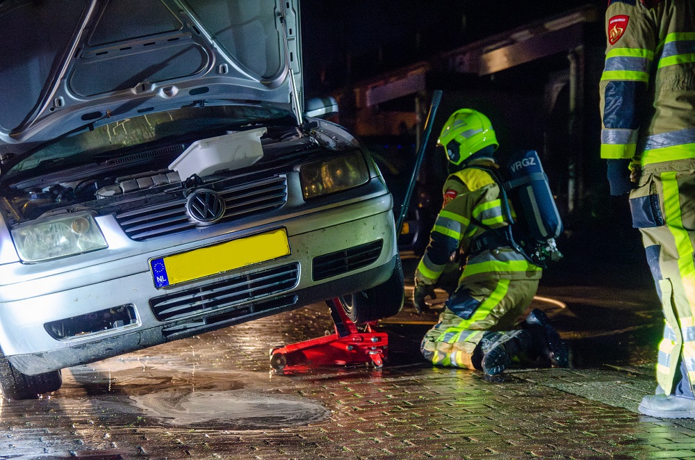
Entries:
{"type": "Polygon", "coordinates": [[[300,104],[298,2],[0,2],[0,169],[85,126],[183,106],[300,104]]]}

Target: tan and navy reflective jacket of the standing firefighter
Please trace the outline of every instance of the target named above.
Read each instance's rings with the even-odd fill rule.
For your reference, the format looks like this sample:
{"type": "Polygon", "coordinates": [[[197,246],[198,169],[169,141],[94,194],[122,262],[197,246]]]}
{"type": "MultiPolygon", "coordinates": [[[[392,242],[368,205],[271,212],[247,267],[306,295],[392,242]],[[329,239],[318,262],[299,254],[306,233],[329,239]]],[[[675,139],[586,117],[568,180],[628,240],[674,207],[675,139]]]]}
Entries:
{"type": "Polygon", "coordinates": [[[631,158],[651,172],[692,169],[695,2],[612,0],[606,31],[601,158],[631,158]]]}

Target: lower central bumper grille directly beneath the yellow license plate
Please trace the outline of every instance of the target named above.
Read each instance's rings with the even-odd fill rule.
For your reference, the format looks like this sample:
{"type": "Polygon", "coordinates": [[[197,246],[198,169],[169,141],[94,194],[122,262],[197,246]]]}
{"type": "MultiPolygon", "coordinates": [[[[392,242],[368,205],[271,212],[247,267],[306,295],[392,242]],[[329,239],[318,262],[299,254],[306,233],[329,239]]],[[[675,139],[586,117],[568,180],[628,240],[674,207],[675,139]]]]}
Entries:
{"type": "Polygon", "coordinates": [[[204,315],[235,305],[240,309],[247,309],[247,302],[283,293],[297,286],[299,273],[297,263],[281,265],[198,288],[153,297],[149,299],[149,306],[159,321],[204,315]]]}

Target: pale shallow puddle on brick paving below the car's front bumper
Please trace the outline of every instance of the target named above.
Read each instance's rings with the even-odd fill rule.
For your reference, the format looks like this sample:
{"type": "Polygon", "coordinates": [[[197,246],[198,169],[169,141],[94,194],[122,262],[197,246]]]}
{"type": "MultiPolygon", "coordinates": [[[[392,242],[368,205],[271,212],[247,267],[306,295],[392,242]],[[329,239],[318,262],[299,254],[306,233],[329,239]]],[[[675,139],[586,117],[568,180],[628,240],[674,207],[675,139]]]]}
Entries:
{"type": "Polygon", "coordinates": [[[106,419],[133,425],[170,425],[220,429],[280,428],[321,422],[330,416],[320,402],[279,393],[293,386],[287,377],[259,372],[181,372],[159,366],[130,365],[74,372],[83,392],[78,401],[68,397],[68,383],[51,402],[60,406],[77,403],[100,408],[106,419]]]}

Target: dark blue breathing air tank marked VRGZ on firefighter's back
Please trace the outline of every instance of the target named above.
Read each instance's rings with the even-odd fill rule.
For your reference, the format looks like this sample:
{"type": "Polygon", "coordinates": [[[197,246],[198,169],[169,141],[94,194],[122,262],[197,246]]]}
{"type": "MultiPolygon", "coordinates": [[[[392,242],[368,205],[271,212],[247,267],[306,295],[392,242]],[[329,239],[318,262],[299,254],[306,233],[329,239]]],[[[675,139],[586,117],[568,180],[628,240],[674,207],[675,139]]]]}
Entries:
{"type": "Polygon", "coordinates": [[[546,265],[548,258],[562,258],[555,243],[555,238],[562,234],[562,217],[538,153],[519,151],[509,158],[502,174],[505,195],[517,213],[518,222],[511,226],[516,227],[512,229],[516,244],[537,265],[546,265]]]}

